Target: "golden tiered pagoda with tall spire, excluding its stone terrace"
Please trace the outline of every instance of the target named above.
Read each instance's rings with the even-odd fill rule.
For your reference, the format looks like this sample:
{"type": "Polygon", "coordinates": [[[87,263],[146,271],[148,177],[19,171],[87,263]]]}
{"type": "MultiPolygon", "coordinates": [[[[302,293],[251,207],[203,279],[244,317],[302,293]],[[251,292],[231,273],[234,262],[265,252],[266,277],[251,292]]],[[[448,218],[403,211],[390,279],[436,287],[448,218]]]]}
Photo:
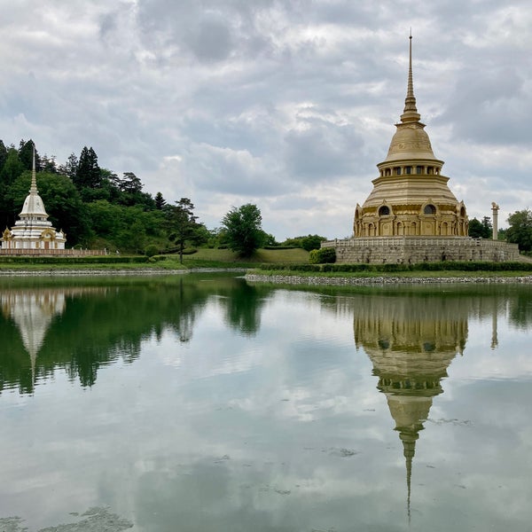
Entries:
{"type": "Polygon", "coordinates": [[[354,236],[467,236],[465,205],[450,192],[442,176],[443,161],[434,156],[425,124],[416,107],[412,77],[412,37],[408,86],[401,122],[377,165],[373,190],[356,204],[354,236]]]}

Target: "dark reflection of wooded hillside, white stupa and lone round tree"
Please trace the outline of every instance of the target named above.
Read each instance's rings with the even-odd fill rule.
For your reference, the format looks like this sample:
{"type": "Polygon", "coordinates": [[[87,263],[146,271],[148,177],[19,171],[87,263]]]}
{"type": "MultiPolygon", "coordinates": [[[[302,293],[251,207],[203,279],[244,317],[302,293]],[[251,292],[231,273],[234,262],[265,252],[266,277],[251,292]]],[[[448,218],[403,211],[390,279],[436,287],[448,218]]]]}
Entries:
{"type": "Polygon", "coordinates": [[[102,365],[118,358],[133,362],[142,341],[151,336],[160,339],[171,331],[179,341],[191,340],[200,312],[213,297],[223,301],[231,326],[256,332],[262,295],[272,290],[227,275],[61,283],[0,287],[0,390],[16,385],[29,393],[35,379],[45,379],[58,367],[82,386],[92,386],[102,365]]]}

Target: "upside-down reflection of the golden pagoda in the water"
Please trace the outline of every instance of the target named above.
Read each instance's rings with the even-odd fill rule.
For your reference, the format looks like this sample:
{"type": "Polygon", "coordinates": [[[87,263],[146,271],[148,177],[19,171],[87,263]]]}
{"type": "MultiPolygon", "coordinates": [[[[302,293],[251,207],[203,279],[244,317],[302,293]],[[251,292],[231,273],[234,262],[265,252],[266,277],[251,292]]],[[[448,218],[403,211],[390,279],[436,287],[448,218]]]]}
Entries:
{"type": "Polygon", "coordinates": [[[392,294],[363,296],[355,309],[356,348],[372,360],[403,442],[409,517],[416,442],[447,368],[465,347],[467,314],[462,298],[392,294]]]}

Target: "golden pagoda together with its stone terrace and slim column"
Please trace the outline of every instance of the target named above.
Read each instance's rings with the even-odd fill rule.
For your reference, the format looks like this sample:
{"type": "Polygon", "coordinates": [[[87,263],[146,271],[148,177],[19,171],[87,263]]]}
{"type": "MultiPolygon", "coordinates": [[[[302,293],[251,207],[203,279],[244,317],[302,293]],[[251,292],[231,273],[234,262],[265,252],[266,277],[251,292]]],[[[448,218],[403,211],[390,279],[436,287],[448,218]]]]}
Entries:
{"type": "Polygon", "coordinates": [[[519,261],[518,246],[497,234],[493,240],[468,236],[464,202],[450,191],[416,106],[411,35],[409,48],[403,114],[372,192],[362,207],[356,204],[352,236],[321,246],[335,249],[336,262],[519,261]]]}

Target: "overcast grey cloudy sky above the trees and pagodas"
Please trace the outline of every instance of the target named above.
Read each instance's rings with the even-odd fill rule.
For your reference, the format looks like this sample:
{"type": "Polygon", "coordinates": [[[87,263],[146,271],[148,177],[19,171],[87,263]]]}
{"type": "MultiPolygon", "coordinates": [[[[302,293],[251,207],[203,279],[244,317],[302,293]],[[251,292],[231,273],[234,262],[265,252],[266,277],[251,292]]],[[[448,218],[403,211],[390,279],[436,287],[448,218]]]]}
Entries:
{"type": "Polygon", "coordinates": [[[352,231],[414,89],[470,217],[532,207],[529,0],[0,0],[0,138],[92,146],[207,227],[352,231]]]}

